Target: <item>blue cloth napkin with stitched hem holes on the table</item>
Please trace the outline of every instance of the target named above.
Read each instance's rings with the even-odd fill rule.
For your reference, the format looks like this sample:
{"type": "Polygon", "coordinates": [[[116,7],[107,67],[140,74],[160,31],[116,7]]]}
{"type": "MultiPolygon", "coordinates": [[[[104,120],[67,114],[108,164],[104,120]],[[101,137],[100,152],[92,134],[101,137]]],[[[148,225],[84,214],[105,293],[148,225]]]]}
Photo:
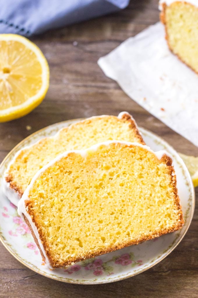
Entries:
{"type": "Polygon", "coordinates": [[[0,0],[0,33],[33,35],[125,8],[130,0],[0,0]]]}

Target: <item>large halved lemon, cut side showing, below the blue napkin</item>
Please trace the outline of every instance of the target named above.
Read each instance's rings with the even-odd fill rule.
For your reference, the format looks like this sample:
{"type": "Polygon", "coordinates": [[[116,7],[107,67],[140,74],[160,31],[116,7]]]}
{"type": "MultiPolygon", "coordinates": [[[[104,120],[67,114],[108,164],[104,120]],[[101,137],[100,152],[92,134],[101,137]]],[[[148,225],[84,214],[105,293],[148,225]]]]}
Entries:
{"type": "Polygon", "coordinates": [[[20,118],[39,105],[49,88],[41,50],[17,34],[0,34],[0,122],[20,118]]]}

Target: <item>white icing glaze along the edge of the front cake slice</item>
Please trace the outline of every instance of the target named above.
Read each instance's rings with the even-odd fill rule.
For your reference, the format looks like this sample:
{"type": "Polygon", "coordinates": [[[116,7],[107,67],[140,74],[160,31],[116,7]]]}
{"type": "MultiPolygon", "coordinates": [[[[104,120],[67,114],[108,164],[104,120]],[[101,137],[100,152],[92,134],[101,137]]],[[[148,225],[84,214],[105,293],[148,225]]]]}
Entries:
{"type": "Polygon", "coordinates": [[[26,216],[26,218],[28,219],[30,225],[31,225],[31,228],[34,232],[34,235],[36,236],[37,240],[38,240],[38,243],[39,243],[39,246],[42,250],[42,253],[43,255],[45,256],[45,263],[46,265],[52,269],[52,266],[50,265],[50,261],[49,259],[47,258],[47,255],[45,253],[45,249],[42,245],[42,242],[39,238],[39,233],[38,233],[38,230],[37,230],[37,227],[35,226],[34,222],[32,221],[31,219],[31,216],[28,214],[28,210],[27,208],[25,207],[25,201],[27,200],[28,201],[28,194],[29,194],[29,191],[31,190],[31,187],[33,186],[35,180],[40,176],[40,174],[42,172],[44,172],[48,167],[52,166],[55,162],[58,162],[61,158],[63,157],[66,157],[69,153],[77,153],[77,154],[80,154],[83,158],[86,157],[87,153],[88,152],[91,152],[91,151],[96,151],[97,148],[99,148],[100,146],[109,146],[110,144],[113,144],[113,143],[120,143],[120,144],[124,144],[124,145],[128,145],[128,146],[139,146],[141,148],[144,148],[148,151],[150,151],[151,153],[155,154],[156,157],[160,160],[161,157],[166,154],[167,156],[170,156],[170,158],[172,159],[172,156],[167,153],[165,150],[160,150],[160,151],[157,151],[157,152],[154,152],[153,150],[151,150],[151,148],[149,148],[148,146],[146,145],[142,145],[142,144],[139,144],[139,143],[131,143],[131,142],[124,142],[124,141],[107,141],[107,142],[102,142],[102,143],[99,143],[99,144],[96,144],[96,145],[93,145],[91,146],[90,148],[88,149],[85,149],[85,150],[70,150],[70,151],[66,151],[60,155],[58,155],[55,159],[53,159],[51,162],[49,162],[47,165],[45,165],[44,167],[42,167],[42,169],[40,169],[36,175],[33,177],[33,179],[31,180],[31,183],[28,185],[28,187],[26,188],[22,198],[20,199],[20,201],[18,202],[18,214],[23,217],[23,214],[26,216]]]}

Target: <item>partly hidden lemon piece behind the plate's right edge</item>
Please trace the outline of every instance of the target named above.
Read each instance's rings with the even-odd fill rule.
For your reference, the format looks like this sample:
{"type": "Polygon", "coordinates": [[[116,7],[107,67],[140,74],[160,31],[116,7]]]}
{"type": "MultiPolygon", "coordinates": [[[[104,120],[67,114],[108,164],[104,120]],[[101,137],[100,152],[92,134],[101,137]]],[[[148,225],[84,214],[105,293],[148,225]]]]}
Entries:
{"type": "Polygon", "coordinates": [[[194,187],[198,186],[198,157],[179,153],[191,175],[194,187]]]}

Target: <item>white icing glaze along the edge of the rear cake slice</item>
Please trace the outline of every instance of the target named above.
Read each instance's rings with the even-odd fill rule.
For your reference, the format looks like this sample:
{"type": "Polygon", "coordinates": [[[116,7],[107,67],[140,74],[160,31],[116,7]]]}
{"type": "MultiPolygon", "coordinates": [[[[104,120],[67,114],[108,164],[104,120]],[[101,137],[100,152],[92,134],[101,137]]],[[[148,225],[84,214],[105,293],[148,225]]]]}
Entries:
{"type": "MultiPolygon", "coordinates": [[[[132,117],[128,112],[121,112],[121,113],[118,115],[118,119],[121,119],[122,116],[123,116],[123,114],[128,114],[128,115],[131,117],[131,119],[135,122],[135,120],[133,119],[133,117],[132,117]]],[[[109,115],[92,116],[92,117],[90,117],[90,118],[83,119],[83,120],[81,120],[81,121],[79,121],[79,122],[75,122],[75,123],[73,123],[72,125],[68,126],[68,129],[71,129],[76,123],[81,123],[81,122],[84,122],[84,121],[89,120],[89,119],[100,118],[100,117],[109,117],[109,115]]],[[[136,124],[136,122],[135,122],[135,124],[136,124]]],[[[136,126],[137,126],[137,125],[136,125],[136,126]]],[[[58,135],[59,135],[60,132],[61,132],[62,130],[64,130],[64,129],[65,129],[65,127],[61,128],[61,129],[60,129],[54,136],[50,136],[50,137],[47,137],[47,138],[54,138],[54,139],[58,138],[58,135]]],[[[42,139],[45,139],[45,138],[42,138],[42,139]]],[[[21,153],[21,151],[26,150],[26,149],[28,149],[28,148],[31,148],[32,146],[38,144],[40,141],[41,141],[41,139],[38,140],[37,142],[35,142],[35,143],[32,144],[32,145],[29,145],[29,146],[26,146],[26,147],[20,149],[20,150],[15,154],[15,156],[14,156],[13,159],[12,159],[12,161],[9,163],[9,165],[8,165],[8,167],[7,167],[7,170],[6,170],[6,173],[5,173],[5,175],[4,175],[4,179],[3,179],[3,193],[4,193],[4,195],[9,199],[9,201],[11,201],[11,203],[14,204],[15,206],[18,205],[18,201],[20,200],[20,195],[17,193],[16,190],[14,190],[13,188],[10,187],[9,182],[7,182],[7,181],[5,180],[5,177],[7,176],[7,173],[9,172],[9,168],[10,168],[10,166],[11,166],[12,164],[15,163],[15,160],[16,160],[16,158],[18,157],[18,155],[21,153]]]]}

